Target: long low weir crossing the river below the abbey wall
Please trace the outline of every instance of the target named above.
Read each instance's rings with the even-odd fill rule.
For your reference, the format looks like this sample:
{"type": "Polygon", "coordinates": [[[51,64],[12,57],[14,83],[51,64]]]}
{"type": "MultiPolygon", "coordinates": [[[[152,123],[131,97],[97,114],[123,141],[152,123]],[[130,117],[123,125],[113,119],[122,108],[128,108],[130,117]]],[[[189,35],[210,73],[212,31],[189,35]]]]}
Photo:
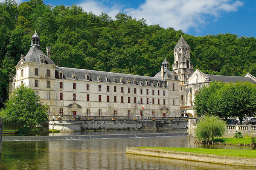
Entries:
{"type": "Polygon", "coordinates": [[[187,133],[140,133],[112,135],[78,135],[78,136],[4,136],[3,141],[49,141],[49,140],[86,140],[86,139],[120,139],[187,136],[187,133]]]}

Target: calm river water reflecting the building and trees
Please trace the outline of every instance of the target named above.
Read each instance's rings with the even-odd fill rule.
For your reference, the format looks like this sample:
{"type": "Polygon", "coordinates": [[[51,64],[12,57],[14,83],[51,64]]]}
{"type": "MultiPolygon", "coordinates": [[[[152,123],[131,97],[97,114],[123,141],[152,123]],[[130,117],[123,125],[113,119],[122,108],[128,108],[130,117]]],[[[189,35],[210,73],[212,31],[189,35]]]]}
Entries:
{"type": "MultiPolygon", "coordinates": [[[[173,132],[183,132],[172,130],[173,132]]],[[[145,133],[148,131],[124,131],[145,133]]],[[[154,132],[154,131],[152,131],[154,132]]],[[[103,132],[102,132],[103,133],[103,132]]],[[[108,132],[115,133],[115,132],[108,132]]],[[[120,132],[118,132],[120,133],[120,132]]],[[[159,132],[158,132],[159,133],[159,132]]],[[[78,133],[68,133],[79,135],[78,133]]],[[[99,134],[99,133],[93,133],[99,134]]],[[[55,134],[54,134],[55,135],[55,134]]],[[[60,133],[58,134],[60,135],[60,133]]],[[[65,134],[67,135],[67,134],[65,134]]],[[[84,134],[83,134],[84,135],[84,134]]],[[[233,170],[236,166],[125,154],[125,147],[189,147],[187,136],[3,142],[2,170],[233,170]]],[[[194,145],[192,147],[199,147],[194,145]]],[[[200,146],[202,147],[202,146],[200,146]]],[[[207,146],[204,146],[207,147],[207,146]]],[[[208,146],[209,147],[209,146],[208,146]]],[[[241,147],[240,149],[242,149],[241,147]]],[[[232,147],[238,149],[238,147],[232,147]]],[[[247,148],[248,149],[248,148],[247,148]]],[[[247,168],[254,170],[253,168],[247,168]]],[[[256,170],[256,169],[255,169],[256,170]]]]}

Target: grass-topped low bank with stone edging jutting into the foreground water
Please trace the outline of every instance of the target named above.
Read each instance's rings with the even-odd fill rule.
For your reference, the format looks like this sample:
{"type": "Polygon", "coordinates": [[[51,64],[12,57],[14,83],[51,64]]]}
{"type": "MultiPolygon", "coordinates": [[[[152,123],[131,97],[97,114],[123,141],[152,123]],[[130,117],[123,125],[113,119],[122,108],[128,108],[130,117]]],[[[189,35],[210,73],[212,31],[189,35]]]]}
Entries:
{"type": "Polygon", "coordinates": [[[256,167],[256,150],[127,147],[126,153],[216,164],[256,167]],[[182,151],[180,151],[182,150],[182,151]]]}

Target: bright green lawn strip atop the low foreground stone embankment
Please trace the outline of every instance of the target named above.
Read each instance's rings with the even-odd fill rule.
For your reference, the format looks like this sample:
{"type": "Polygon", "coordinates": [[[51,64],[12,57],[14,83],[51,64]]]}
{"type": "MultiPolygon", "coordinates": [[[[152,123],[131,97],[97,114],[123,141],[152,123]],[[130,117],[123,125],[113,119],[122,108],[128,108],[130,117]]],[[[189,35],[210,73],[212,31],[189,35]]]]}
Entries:
{"type": "Polygon", "coordinates": [[[137,148],[154,148],[161,150],[172,150],[178,152],[214,154],[219,156],[256,158],[256,150],[230,150],[230,149],[204,149],[204,148],[184,148],[184,147],[137,147],[137,148]]]}

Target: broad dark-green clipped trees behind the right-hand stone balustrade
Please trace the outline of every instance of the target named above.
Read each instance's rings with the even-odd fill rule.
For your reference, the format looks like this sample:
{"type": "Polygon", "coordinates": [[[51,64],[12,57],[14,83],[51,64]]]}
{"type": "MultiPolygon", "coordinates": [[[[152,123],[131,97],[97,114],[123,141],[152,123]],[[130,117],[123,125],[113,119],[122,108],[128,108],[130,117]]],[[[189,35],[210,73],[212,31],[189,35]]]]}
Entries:
{"type": "Polygon", "coordinates": [[[256,86],[250,82],[212,82],[195,95],[194,109],[198,116],[223,118],[251,117],[256,113],[256,86]]]}

